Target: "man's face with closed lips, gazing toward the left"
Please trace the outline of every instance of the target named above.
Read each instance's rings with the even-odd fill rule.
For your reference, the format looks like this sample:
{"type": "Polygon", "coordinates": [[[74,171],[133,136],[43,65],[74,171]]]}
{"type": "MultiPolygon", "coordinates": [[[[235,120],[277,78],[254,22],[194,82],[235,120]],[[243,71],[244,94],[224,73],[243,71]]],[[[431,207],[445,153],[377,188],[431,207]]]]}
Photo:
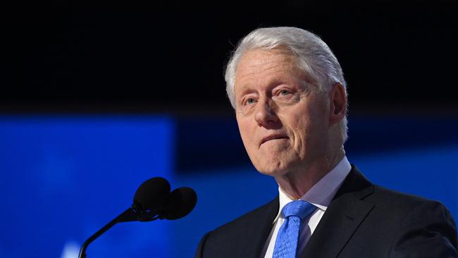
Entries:
{"type": "Polygon", "coordinates": [[[237,123],[256,169],[284,176],[326,158],[327,94],[284,49],[247,51],[235,73],[237,123]]]}

